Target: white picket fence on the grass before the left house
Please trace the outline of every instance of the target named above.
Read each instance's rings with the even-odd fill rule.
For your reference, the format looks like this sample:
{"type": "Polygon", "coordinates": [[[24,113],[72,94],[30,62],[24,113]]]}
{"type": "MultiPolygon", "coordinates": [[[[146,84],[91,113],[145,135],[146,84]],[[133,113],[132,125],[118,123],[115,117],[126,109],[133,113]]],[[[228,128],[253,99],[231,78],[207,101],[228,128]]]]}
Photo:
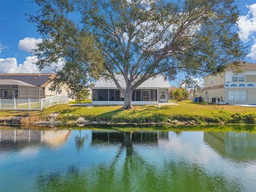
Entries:
{"type": "Polygon", "coordinates": [[[44,99],[0,99],[0,109],[42,110],[43,108],[60,103],[68,103],[68,96],[55,95],[44,99]]]}

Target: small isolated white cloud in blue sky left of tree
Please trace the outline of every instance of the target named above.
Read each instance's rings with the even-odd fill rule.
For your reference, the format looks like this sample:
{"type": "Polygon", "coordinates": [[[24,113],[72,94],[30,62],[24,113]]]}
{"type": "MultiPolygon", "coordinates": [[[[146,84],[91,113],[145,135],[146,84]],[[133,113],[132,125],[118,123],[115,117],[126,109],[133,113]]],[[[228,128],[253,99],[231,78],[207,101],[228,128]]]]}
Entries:
{"type": "Polygon", "coordinates": [[[19,50],[26,51],[30,53],[33,49],[36,49],[36,44],[41,43],[43,41],[42,38],[34,38],[34,37],[26,37],[19,41],[19,50]]]}

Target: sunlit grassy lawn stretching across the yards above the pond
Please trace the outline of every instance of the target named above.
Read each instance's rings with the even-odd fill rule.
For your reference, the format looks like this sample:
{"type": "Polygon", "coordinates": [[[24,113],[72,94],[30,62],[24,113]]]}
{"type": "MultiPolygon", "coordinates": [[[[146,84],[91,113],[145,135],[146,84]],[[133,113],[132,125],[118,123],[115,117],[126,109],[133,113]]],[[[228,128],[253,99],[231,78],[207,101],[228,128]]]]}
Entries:
{"type": "MultiPolygon", "coordinates": [[[[88,101],[89,102],[89,101],[88,101]]],[[[74,103],[74,102],[72,102],[74,103]]],[[[43,111],[1,111],[0,116],[49,116],[60,113],[63,121],[76,120],[79,116],[90,121],[111,122],[166,122],[168,118],[179,121],[197,121],[209,123],[250,123],[256,122],[256,108],[231,105],[204,105],[193,101],[181,101],[179,105],[134,106],[123,110],[122,106],[79,107],[68,104],[55,105],[43,111]],[[71,114],[71,115],[70,115],[71,114]]]]}

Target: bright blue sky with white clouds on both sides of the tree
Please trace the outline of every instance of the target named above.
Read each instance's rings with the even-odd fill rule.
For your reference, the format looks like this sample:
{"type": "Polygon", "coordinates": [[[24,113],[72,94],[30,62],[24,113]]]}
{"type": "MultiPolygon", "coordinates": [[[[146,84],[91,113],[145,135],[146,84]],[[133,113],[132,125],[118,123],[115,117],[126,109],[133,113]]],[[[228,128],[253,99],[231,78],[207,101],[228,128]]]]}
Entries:
{"type": "MultiPolygon", "coordinates": [[[[241,10],[238,25],[243,31],[241,38],[249,46],[249,56],[245,61],[256,63],[256,0],[240,0],[241,10]],[[255,5],[255,6],[254,6],[255,5]]],[[[27,21],[25,13],[35,14],[38,9],[31,1],[0,0],[0,73],[35,73],[36,59],[29,50],[35,42],[41,41],[33,23],[27,21]]],[[[44,69],[43,72],[50,72],[44,69]]],[[[182,79],[182,76],[179,76],[182,79]]],[[[175,86],[175,82],[172,85],[175,86]]]]}

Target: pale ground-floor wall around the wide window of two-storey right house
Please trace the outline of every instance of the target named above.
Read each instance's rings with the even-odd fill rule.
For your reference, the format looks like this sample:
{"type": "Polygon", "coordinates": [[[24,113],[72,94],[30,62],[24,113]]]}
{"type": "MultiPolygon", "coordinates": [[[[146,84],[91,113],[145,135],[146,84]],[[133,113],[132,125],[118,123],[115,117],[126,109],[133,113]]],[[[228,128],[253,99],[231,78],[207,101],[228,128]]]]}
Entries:
{"type": "Polygon", "coordinates": [[[256,88],[226,89],[226,102],[229,104],[256,105],[256,88]],[[247,101],[229,101],[228,91],[247,91],[247,101]]]}

